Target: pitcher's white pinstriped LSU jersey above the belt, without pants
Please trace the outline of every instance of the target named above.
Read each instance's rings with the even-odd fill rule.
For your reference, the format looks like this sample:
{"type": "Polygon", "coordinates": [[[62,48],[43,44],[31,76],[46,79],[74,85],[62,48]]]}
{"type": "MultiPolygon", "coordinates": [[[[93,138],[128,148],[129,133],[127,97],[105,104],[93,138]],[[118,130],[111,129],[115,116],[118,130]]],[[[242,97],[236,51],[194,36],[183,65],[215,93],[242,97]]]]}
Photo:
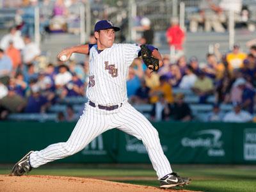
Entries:
{"type": "Polygon", "coordinates": [[[97,51],[90,49],[89,84],[87,97],[92,102],[112,106],[127,101],[126,77],[140,46],[136,44],[113,44],[97,51]]]}

